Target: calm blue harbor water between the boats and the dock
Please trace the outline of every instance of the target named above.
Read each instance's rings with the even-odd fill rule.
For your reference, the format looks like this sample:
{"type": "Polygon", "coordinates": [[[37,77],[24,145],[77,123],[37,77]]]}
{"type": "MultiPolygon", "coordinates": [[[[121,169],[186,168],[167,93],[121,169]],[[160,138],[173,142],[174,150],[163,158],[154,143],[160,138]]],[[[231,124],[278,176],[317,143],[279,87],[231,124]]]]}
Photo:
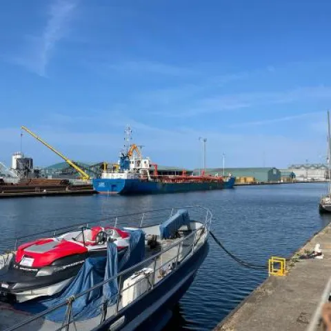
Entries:
{"type": "MultiPolygon", "coordinates": [[[[139,197],[41,197],[0,200],[0,250],[8,238],[33,234],[110,214],[204,205],[212,210],[212,231],[228,250],[253,263],[271,255],[288,256],[331,217],[320,216],[318,202],[326,185],[300,183],[237,187],[139,197]]],[[[210,238],[210,253],[174,309],[171,330],[211,330],[261,283],[266,272],[249,270],[230,259],[210,238]]]]}

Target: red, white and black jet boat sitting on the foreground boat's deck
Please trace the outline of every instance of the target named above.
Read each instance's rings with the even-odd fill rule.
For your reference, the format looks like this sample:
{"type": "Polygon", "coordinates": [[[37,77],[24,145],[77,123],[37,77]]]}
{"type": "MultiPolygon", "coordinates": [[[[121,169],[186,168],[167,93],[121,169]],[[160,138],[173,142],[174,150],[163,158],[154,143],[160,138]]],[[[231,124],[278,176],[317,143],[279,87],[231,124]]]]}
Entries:
{"type": "Polygon", "coordinates": [[[107,241],[122,251],[129,245],[130,234],[95,226],[24,243],[0,270],[0,294],[23,302],[58,293],[76,276],[85,259],[107,254],[107,241]]]}

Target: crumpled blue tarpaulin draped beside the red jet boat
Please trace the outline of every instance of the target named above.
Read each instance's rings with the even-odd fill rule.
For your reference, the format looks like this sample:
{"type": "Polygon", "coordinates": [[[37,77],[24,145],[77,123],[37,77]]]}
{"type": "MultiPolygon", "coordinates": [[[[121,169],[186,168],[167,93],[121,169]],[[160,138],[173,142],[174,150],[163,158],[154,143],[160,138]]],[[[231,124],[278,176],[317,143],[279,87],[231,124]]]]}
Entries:
{"type": "MultiPolygon", "coordinates": [[[[109,279],[120,272],[139,263],[145,257],[145,234],[142,230],[130,232],[130,244],[124,254],[118,254],[117,246],[108,242],[107,257],[86,259],[81,270],[68,287],[56,296],[49,299],[35,299],[24,303],[17,303],[17,310],[24,310],[36,314],[54,307],[68,297],[79,294],[92,286],[109,279]]],[[[117,301],[118,293],[117,279],[110,281],[103,286],[88,292],[88,294],[76,299],[72,303],[72,312],[76,321],[90,319],[100,314],[103,303],[112,305],[117,301]]],[[[46,319],[54,322],[63,321],[66,314],[66,306],[51,312],[46,319]]]]}

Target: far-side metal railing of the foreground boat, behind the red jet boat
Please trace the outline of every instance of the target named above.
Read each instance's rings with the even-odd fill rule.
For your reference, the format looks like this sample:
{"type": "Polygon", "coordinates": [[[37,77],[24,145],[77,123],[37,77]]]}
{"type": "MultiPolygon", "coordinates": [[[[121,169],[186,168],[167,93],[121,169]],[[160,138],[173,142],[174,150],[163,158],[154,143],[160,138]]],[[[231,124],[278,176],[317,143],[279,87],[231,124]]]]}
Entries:
{"type": "Polygon", "coordinates": [[[145,210],[142,212],[135,212],[129,214],[114,214],[108,217],[102,217],[95,221],[86,221],[80,223],[73,223],[72,225],[66,225],[61,228],[54,228],[50,230],[43,230],[41,232],[34,232],[32,234],[26,234],[20,237],[12,237],[7,238],[6,241],[8,243],[8,248],[5,252],[16,251],[18,246],[25,242],[26,239],[32,241],[34,239],[40,238],[41,235],[44,237],[57,237],[63,233],[70,231],[79,231],[81,228],[86,227],[89,228],[95,225],[101,226],[114,226],[116,227],[143,227],[144,225],[157,225],[166,221],[169,217],[171,217],[177,210],[179,209],[187,209],[190,213],[190,219],[194,221],[199,221],[201,223],[205,223],[206,214],[210,212],[208,208],[204,208],[202,206],[196,205],[188,205],[184,207],[174,207],[174,208],[163,208],[156,210],[145,210]],[[13,247],[14,246],[14,247],[13,247]]]}

